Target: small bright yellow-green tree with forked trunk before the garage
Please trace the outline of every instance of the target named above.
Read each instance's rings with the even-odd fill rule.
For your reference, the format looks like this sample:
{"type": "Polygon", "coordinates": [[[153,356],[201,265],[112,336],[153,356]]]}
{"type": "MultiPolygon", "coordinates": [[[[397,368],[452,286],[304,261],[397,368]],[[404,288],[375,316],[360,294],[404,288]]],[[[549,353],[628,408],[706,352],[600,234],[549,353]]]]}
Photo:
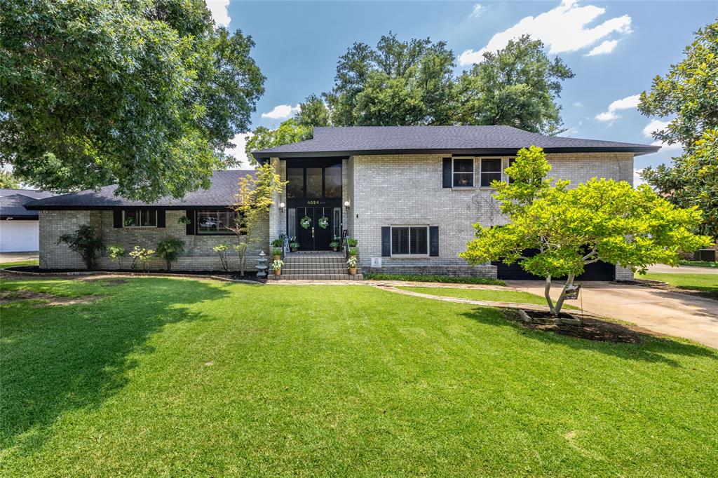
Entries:
{"type": "Polygon", "coordinates": [[[460,254],[471,264],[518,263],[546,278],[544,294],[558,316],[574,278],[597,261],[645,271],[653,263],[678,264],[680,253],[709,243],[691,231],[701,222],[696,207],[681,209],[646,185],[590,179],[575,188],[546,174],[551,166],[541,148],[518,151],[506,169],[511,182],[493,182],[494,197],[508,225],[484,228],[460,254]],[[536,254],[526,251],[535,250],[536,254]],[[551,300],[551,278],[567,277],[559,299],[551,300]]]}

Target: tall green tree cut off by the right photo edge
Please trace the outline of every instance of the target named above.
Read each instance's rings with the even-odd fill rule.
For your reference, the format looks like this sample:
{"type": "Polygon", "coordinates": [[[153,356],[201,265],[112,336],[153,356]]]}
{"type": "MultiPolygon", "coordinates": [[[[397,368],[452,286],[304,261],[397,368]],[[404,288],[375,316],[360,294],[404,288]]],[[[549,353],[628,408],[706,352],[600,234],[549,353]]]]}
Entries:
{"type": "Polygon", "coordinates": [[[658,192],[681,207],[703,210],[699,231],[718,240],[718,22],[696,32],[685,58],[657,76],[640,95],[638,109],[646,116],[670,117],[653,137],[684,148],[671,167],[648,167],[642,176],[658,192]]]}

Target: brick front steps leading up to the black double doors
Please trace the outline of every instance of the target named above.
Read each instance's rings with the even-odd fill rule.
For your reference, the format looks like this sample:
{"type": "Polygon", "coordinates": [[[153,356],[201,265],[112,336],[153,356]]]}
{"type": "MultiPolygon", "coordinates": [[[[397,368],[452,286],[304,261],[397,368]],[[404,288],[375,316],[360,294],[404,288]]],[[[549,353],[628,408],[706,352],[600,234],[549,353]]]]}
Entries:
{"type": "Polygon", "coordinates": [[[320,281],[360,281],[360,270],[355,276],[347,271],[344,253],[340,252],[298,252],[289,253],[284,258],[281,276],[272,275],[275,280],[320,280],[320,281]]]}

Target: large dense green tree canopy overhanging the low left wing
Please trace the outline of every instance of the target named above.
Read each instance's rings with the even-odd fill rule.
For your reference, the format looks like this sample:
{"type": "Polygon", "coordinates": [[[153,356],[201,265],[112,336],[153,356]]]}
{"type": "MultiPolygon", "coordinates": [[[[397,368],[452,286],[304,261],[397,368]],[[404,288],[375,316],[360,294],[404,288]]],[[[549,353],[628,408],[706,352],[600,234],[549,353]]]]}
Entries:
{"type": "Polygon", "coordinates": [[[264,77],[203,0],[1,4],[0,161],[19,179],[151,201],[234,164],[264,77]]]}

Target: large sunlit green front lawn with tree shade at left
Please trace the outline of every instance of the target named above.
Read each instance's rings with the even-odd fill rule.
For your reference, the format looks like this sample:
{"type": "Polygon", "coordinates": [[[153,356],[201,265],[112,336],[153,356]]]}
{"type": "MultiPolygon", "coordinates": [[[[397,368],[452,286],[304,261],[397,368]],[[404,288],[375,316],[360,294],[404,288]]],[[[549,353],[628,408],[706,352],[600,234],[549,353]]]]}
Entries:
{"type": "Polygon", "coordinates": [[[718,474],[698,345],[370,286],[1,286],[98,299],[2,305],[2,477],[718,474]]]}

